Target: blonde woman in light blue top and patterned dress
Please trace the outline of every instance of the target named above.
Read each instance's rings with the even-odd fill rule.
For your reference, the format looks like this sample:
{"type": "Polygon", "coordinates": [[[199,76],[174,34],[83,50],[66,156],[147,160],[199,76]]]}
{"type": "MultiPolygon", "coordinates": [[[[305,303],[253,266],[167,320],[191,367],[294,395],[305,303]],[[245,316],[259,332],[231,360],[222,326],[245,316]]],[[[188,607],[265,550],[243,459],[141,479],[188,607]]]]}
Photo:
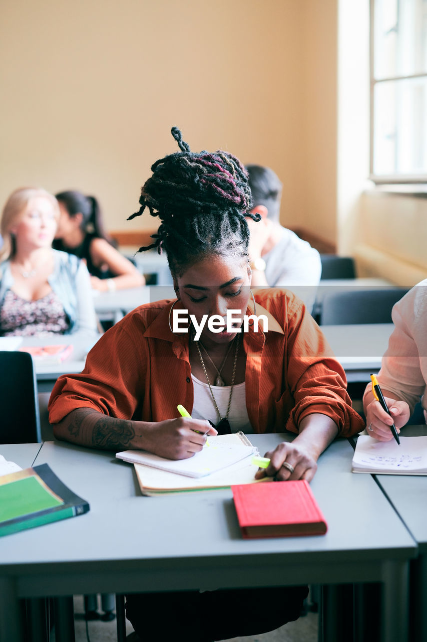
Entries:
{"type": "Polygon", "coordinates": [[[39,187],[15,189],[0,232],[0,335],[97,332],[87,267],[53,250],[56,198],[39,187]]]}

